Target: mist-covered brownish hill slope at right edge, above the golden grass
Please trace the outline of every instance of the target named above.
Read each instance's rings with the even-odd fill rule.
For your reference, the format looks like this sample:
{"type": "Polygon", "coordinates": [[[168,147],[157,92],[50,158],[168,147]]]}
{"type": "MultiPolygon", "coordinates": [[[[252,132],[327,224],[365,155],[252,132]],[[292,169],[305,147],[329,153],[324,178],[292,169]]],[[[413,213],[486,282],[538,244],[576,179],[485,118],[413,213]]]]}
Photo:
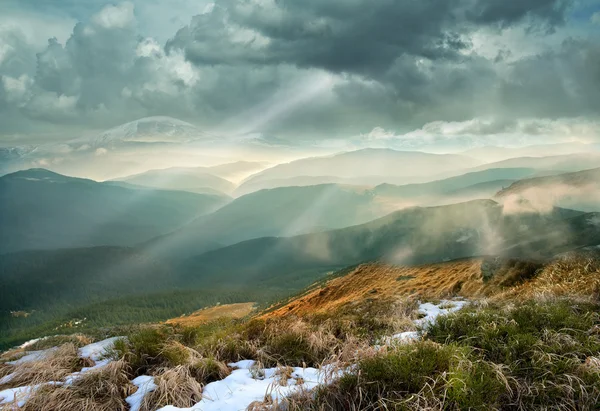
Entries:
{"type": "Polygon", "coordinates": [[[524,210],[560,206],[600,211],[600,168],[517,181],[496,197],[507,207],[524,210]]]}

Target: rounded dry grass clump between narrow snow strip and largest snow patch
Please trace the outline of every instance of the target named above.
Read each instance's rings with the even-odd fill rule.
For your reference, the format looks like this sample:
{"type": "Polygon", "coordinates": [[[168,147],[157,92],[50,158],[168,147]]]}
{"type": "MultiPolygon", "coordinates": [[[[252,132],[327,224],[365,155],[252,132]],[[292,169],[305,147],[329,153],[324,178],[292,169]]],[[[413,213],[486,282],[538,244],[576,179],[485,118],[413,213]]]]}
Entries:
{"type": "Polygon", "coordinates": [[[187,408],[202,399],[202,385],[187,366],[167,369],[154,379],[156,390],[144,397],[140,411],[155,411],[166,405],[187,408]]]}

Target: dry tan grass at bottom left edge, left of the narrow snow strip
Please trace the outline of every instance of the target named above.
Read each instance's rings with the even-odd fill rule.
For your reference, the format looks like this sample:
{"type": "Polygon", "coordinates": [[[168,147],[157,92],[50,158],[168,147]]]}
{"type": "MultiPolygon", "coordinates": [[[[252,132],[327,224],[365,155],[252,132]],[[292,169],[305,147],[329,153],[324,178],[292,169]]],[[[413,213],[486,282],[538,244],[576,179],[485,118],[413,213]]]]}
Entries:
{"type": "Polygon", "coordinates": [[[70,386],[46,385],[38,389],[23,411],[126,411],[125,398],[135,392],[129,382],[129,366],[114,361],[90,371],[70,386]]]}

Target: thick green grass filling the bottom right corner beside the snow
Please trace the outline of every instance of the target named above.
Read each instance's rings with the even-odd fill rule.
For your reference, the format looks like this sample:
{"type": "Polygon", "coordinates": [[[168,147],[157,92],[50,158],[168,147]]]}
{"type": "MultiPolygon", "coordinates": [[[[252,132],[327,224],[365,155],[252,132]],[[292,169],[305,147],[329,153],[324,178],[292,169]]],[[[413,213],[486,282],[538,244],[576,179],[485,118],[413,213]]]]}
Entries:
{"type": "Polygon", "coordinates": [[[600,305],[572,300],[465,308],[425,340],[361,358],[290,410],[594,410],[600,305]]]}

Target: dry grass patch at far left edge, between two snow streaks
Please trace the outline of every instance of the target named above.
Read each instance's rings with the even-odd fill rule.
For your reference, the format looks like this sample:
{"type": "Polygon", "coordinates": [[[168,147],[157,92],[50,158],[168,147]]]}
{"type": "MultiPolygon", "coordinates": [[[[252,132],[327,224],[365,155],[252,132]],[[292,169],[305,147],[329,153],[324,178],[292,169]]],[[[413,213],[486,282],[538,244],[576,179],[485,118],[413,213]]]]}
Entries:
{"type": "Polygon", "coordinates": [[[92,360],[79,357],[75,345],[64,344],[43,359],[15,365],[12,379],[0,389],[61,381],[69,374],[92,365],[92,360]]]}

